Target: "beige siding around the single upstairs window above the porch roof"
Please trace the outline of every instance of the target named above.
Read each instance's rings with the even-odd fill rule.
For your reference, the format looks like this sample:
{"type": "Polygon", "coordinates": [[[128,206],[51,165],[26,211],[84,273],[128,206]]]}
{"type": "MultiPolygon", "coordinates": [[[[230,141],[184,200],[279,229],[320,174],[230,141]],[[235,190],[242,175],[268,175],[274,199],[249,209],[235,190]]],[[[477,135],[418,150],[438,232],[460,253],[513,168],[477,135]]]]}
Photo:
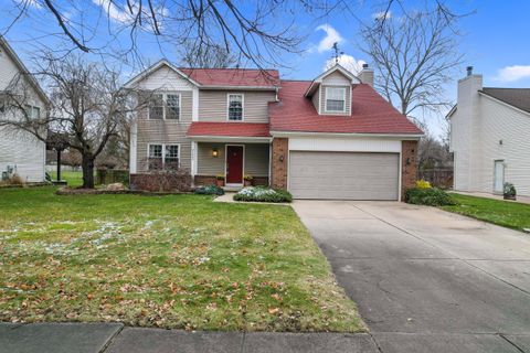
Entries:
{"type": "Polygon", "coordinates": [[[274,92],[199,90],[199,121],[227,121],[227,95],[243,94],[243,121],[268,122],[268,103],[274,92]]]}

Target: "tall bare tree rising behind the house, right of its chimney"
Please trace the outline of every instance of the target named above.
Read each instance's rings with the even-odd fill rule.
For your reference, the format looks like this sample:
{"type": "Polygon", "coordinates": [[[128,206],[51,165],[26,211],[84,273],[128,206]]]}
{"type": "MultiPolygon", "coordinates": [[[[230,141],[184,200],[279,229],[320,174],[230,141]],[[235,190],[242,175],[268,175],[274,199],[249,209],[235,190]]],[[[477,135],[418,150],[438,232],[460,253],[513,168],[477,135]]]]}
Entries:
{"type": "Polygon", "coordinates": [[[401,17],[390,15],[389,9],[361,29],[361,49],[379,71],[378,90],[411,118],[417,118],[418,110],[448,107],[444,86],[463,62],[455,29],[460,15],[439,2],[435,9],[401,17]]]}

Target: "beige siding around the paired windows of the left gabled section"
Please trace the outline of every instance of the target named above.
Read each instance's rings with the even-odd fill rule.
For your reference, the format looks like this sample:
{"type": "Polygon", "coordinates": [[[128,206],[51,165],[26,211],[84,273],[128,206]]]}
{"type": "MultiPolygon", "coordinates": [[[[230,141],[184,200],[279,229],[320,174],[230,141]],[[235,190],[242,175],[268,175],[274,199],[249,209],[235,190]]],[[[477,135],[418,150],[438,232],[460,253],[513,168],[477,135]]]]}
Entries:
{"type": "Polygon", "coordinates": [[[138,114],[137,165],[139,172],[147,171],[149,143],[180,145],[180,168],[191,169],[191,140],[186,133],[192,120],[192,92],[168,93],[181,95],[180,120],[149,120],[147,109],[138,114]]]}

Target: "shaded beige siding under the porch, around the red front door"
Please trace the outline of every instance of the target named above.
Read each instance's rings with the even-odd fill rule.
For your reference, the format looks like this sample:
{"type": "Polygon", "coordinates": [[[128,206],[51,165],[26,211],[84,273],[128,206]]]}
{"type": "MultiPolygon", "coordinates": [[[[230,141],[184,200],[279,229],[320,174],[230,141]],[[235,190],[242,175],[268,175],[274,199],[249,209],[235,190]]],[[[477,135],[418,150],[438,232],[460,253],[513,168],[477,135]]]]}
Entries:
{"type": "MultiPolygon", "coordinates": [[[[231,143],[199,142],[198,143],[198,174],[224,174],[225,146],[231,143]],[[219,157],[212,156],[212,150],[218,149],[219,157]]],[[[239,143],[234,143],[239,145],[239,143]]],[[[268,143],[241,143],[245,146],[244,173],[254,176],[268,175],[268,143]]]]}

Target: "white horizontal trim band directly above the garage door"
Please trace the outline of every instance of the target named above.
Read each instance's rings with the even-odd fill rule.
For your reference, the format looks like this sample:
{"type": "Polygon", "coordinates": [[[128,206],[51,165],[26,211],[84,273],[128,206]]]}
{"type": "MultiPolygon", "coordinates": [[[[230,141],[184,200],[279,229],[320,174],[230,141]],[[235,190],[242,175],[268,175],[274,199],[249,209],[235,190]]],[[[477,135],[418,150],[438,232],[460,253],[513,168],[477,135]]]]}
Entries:
{"type": "Polygon", "coordinates": [[[290,138],[289,151],[401,152],[401,140],[290,138]]]}

